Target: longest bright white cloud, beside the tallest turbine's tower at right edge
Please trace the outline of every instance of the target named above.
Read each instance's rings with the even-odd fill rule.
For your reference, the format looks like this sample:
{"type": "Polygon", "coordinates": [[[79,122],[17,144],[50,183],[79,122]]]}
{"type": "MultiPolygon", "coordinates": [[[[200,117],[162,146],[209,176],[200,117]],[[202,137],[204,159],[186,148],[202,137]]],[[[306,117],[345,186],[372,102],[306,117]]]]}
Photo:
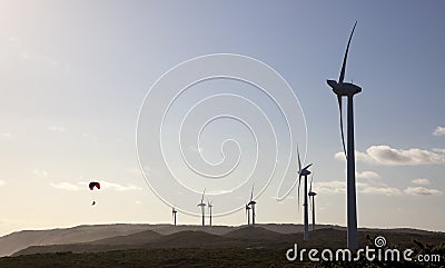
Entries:
{"type": "MultiPolygon", "coordinates": [[[[340,159],[340,153],[335,153],[335,159],[340,159]]],[[[395,149],[389,146],[370,146],[366,152],[356,151],[356,160],[383,166],[418,166],[418,165],[443,165],[445,153],[442,149],[433,151],[412,148],[395,149]]]]}

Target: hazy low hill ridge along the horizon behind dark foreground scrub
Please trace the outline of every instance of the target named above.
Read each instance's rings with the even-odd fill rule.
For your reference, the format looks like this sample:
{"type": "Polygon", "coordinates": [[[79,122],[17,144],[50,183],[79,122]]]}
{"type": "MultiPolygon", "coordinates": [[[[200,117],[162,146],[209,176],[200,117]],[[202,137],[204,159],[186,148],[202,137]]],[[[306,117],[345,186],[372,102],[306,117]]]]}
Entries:
{"type": "MultiPolygon", "coordinates": [[[[24,230],[0,237],[0,257],[36,252],[87,252],[134,248],[255,248],[288,247],[294,242],[307,246],[342,246],[345,227],[319,225],[303,242],[301,225],[246,226],[172,226],[172,225],[98,225],[52,230],[24,230]]],[[[445,240],[444,232],[409,228],[359,229],[360,244],[366,235],[384,235],[388,242],[411,245],[413,239],[445,240]]]]}

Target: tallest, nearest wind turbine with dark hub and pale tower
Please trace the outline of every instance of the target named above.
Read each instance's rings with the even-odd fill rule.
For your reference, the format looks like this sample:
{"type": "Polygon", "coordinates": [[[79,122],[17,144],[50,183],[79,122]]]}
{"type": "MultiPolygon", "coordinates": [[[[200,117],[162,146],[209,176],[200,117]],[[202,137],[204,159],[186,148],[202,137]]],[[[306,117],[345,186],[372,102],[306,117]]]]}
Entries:
{"type": "Polygon", "coordinates": [[[340,71],[340,77],[338,82],[335,80],[327,80],[327,83],[333,89],[334,93],[337,96],[338,110],[340,113],[340,131],[342,131],[342,142],[343,150],[345,151],[345,157],[347,161],[347,247],[349,249],[358,248],[358,237],[357,237],[357,200],[356,200],[356,186],[355,186],[355,152],[354,152],[354,95],[362,92],[362,88],[357,85],[344,82],[345,70],[346,70],[346,59],[349,50],[350,39],[353,38],[355,27],[350,32],[349,40],[346,47],[345,57],[343,59],[343,66],[340,71]],[[345,137],[343,133],[343,116],[342,116],[342,98],[346,96],[348,100],[347,107],[347,152],[345,148],[345,137]]]}

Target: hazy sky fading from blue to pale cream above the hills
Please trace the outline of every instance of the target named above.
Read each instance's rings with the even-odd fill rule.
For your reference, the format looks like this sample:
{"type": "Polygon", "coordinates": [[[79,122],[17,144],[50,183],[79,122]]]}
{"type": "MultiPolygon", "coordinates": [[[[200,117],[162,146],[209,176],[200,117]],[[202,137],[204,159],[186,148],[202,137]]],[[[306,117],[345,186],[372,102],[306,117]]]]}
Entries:
{"type": "Polygon", "coordinates": [[[294,185],[297,142],[304,161],[314,163],[317,221],[345,226],[338,108],[326,79],[338,78],[355,21],[345,80],[363,88],[354,103],[358,227],[445,231],[444,8],[442,1],[0,0],[0,235],[169,224],[170,205],[181,210],[179,224],[198,225],[202,188],[221,215],[214,224],[243,225],[238,208],[254,182],[258,222],[301,224],[296,188],[277,201],[279,172],[269,183],[266,176],[277,165],[287,172],[284,185],[294,185]],[[215,53],[254,59],[285,79],[290,91],[270,90],[284,99],[286,116],[296,115],[293,142],[270,98],[236,79],[191,86],[162,125],[139,115],[146,107],[162,112],[162,101],[172,100],[167,91],[179,90],[167,87],[158,90],[162,101],[150,99],[166,72],[215,53]],[[207,106],[200,102],[206,96],[207,106]],[[197,103],[204,105],[186,118],[197,103]],[[218,112],[249,122],[220,118],[196,143],[198,129],[218,112]],[[188,123],[184,145],[179,119],[188,123]],[[276,136],[261,125],[267,121],[276,136]],[[150,145],[162,145],[165,156],[150,145]],[[234,172],[212,180],[190,167],[234,172]],[[171,177],[192,195],[171,186],[171,177]],[[90,191],[91,180],[101,189],[90,191]]]}

